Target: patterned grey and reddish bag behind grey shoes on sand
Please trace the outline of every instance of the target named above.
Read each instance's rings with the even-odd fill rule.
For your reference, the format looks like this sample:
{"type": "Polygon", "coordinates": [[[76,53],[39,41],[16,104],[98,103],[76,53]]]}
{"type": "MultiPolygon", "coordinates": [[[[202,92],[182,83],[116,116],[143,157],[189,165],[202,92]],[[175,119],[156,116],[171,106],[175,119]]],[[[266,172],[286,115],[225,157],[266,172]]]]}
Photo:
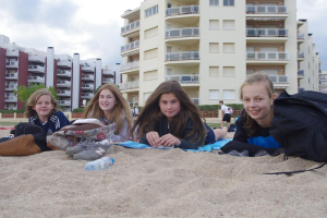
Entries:
{"type": "Polygon", "coordinates": [[[114,134],[116,124],[105,123],[97,119],[76,120],[71,125],[63,126],[59,131],[47,136],[47,146],[51,149],[68,149],[75,146],[82,137],[95,141],[109,138],[114,134]]]}

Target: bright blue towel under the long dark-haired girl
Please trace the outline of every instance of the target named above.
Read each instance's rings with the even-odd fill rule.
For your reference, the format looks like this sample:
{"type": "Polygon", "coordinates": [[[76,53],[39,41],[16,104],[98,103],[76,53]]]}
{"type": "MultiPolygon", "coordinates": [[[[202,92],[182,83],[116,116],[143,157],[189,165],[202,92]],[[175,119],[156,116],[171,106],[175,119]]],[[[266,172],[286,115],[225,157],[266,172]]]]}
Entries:
{"type": "MultiPolygon", "coordinates": [[[[203,147],[198,147],[197,149],[184,149],[184,150],[190,150],[190,152],[211,152],[215,149],[220,149],[223,145],[226,145],[228,142],[232,141],[232,138],[227,138],[227,140],[220,140],[217,141],[214,144],[205,145],[203,147]]],[[[141,149],[141,148],[155,148],[146,144],[141,144],[141,143],[135,143],[133,141],[126,141],[123,143],[120,143],[119,145],[129,147],[129,148],[135,148],[135,149],[141,149]]],[[[172,147],[158,147],[159,149],[171,149],[172,147]]]]}

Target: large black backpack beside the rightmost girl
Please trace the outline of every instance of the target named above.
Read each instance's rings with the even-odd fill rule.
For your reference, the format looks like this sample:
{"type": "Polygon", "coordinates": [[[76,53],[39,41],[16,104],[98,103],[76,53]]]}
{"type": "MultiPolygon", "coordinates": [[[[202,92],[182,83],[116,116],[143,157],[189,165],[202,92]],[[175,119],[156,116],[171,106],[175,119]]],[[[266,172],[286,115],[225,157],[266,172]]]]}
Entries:
{"type": "Polygon", "coordinates": [[[286,156],[327,161],[327,95],[282,92],[274,101],[270,134],[286,156]]]}

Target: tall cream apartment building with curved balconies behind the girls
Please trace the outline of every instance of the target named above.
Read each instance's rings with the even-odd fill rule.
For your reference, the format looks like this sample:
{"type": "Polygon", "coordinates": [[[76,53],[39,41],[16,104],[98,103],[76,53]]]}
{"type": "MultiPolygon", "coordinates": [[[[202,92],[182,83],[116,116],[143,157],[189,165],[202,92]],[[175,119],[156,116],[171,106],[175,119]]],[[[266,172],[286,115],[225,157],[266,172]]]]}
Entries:
{"type": "Polygon", "coordinates": [[[121,17],[120,89],[131,106],[168,80],[196,105],[241,102],[239,87],[255,72],[268,73],[277,94],[315,83],[298,74],[298,50],[312,41],[298,40],[294,0],[146,0],[121,17]]]}

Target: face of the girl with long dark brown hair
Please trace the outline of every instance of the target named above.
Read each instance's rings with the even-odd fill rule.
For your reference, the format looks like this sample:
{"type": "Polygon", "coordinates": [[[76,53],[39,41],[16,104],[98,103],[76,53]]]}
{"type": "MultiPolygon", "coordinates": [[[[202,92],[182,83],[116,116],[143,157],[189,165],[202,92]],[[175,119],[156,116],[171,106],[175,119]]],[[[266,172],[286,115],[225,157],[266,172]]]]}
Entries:
{"type": "Polygon", "coordinates": [[[161,95],[159,99],[161,112],[171,120],[181,111],[181,101],[172,93],[161,95]]]}

